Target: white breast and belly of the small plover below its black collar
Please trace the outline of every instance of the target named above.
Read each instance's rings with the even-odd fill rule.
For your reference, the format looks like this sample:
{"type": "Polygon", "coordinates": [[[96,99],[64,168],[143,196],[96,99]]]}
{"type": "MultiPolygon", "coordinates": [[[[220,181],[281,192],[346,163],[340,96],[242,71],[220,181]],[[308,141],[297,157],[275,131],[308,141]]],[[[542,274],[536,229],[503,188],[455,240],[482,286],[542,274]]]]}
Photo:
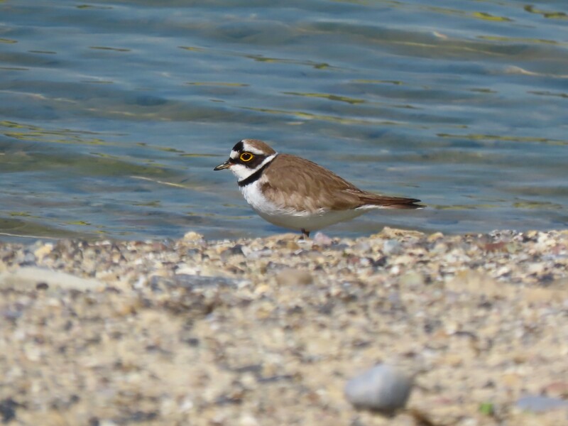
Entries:
{"type": "Polygon", "coordinates": [[[305,229],[306,231],[315,231],[326,226],[344,222],[349,219],[364,214],[369,209],[376,209],[378,206],[362,206],[357,209],[349,210],[324,210],[317,212],[297,211],[273,204],[267,200],[261,192],[261,180],[241,187],[241,192],[253,210],[267,222],[282,226],[288,229],[305,229]]]}

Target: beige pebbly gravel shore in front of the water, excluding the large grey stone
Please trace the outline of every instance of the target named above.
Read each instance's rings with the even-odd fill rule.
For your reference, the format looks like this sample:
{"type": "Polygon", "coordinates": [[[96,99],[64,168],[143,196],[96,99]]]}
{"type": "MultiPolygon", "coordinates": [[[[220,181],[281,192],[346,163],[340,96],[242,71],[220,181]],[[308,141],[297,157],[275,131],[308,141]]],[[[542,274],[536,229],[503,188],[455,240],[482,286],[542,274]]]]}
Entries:
{"type": "Polygon", "coordinates": [[[568,425],[566,230],[0,243],[0,293],[8,425],[568,425]]]}

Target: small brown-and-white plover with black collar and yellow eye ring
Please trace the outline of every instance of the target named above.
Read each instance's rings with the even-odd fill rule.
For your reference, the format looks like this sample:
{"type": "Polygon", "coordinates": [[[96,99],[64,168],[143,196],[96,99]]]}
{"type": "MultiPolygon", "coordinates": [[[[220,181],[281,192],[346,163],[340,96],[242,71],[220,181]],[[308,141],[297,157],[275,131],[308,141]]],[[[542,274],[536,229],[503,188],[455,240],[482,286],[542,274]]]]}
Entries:
{"type": "Polygon", "coordinates": [[[344,222],[372,209],[420,209],[415,198],[360,190],[331,170],[296,155],[278,153],[258,139],[237,142],[229,159],[213,170],[229,169],[246,202],[276,226],[302,232],[344,222]]]}

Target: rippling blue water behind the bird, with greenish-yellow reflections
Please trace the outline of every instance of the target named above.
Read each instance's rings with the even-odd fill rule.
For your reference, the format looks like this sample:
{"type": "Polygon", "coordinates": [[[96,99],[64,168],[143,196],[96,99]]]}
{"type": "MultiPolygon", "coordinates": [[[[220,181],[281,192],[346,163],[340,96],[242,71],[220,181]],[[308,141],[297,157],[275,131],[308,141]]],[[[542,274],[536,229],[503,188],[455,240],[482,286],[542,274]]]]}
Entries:
{"type": "Polygon", "coordinates": [[[241,138],[428,206],[331,235],[565,228],[567,48],[559,0],[0,1],[1,238],[282,231],[241,138]]]}

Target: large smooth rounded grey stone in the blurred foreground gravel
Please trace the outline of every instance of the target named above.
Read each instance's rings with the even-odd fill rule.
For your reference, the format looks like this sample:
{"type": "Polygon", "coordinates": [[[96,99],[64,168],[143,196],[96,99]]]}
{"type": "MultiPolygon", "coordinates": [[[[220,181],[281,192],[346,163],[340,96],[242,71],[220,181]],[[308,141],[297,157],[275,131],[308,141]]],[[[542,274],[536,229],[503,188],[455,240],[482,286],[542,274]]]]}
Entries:
{"type": "Polygon", "coordinates": [[[345,396],[356,407],[393,413],[405,406],[412,387],[413,378],[408,374],[380,364],[347,382],[345,396]]]}

